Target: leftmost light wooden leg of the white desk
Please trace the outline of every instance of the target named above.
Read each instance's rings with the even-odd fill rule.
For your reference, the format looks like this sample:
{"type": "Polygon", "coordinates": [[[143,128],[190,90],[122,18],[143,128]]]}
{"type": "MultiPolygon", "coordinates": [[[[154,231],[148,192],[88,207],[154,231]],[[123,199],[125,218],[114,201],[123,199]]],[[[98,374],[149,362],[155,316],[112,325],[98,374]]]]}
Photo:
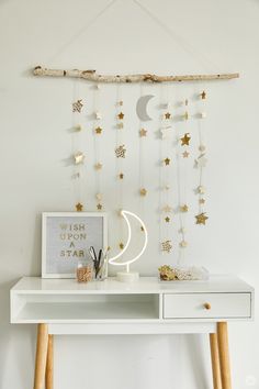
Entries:
{"type": "Polygon", "coordinates": [[[35,358],[34,389],[44,389],[47,362],[48,327],[47,324],[37,325],[37,348],[35,358]]]}

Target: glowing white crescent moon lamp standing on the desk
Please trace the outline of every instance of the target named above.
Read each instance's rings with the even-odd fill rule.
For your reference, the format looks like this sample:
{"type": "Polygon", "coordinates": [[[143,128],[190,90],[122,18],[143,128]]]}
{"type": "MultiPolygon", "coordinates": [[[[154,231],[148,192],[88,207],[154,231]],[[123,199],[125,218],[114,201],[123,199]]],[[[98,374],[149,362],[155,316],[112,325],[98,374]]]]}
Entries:
{"type": "Polygon", "coordinates": [[[109,259],[109,264],[114,265],[114,266],[126,266],[126,271],[117,273],[117,280],[123,281],[123,282],[133,282],[138,279],[139,274],[138,273],[131,273],[130,265],[133,264],[134,262],[136,262],[137,259],[139,259],[147,247],[147,229],[146,229],[146,225],[143,223],[142,219],[138,218],[133,212],[123,210],[122,216],[124,218],[124,220],[127,224],[127,242],[125,244],[125,247],[117,255],[115,255],[114,257],[109,259]],[[127,247],[130,246],[131,240],[132,240],[132,227],[131,227],[131,223],[128,221],[127,215],[135,218],[140,223],[140,225],[143,226],[143,230],[144,230],[145,241],[144,241],[144,245],[143,245],[140,252],[134,258],[125,260],[125,262],[116,262],[116,259],[119,259],[126,252],[127,247]]]}

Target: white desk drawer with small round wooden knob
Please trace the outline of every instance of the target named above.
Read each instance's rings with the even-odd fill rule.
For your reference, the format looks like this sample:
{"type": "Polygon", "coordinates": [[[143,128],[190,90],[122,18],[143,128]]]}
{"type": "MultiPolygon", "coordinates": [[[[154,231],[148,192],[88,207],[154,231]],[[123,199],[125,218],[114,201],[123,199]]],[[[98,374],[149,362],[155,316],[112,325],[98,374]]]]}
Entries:
{"type": "Polygon", "coordinates": [[[250,318],[250,293],[167,293],[164,319],[250,318]]]}

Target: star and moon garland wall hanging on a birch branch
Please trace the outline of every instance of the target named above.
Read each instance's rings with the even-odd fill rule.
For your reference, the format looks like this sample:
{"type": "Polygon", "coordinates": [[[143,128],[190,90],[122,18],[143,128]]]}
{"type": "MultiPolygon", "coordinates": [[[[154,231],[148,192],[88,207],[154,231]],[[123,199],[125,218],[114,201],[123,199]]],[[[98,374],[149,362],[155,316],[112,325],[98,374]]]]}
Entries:
{"type": "MultiPolygon", "coordinates": [[[[111,7],[116,2],[113,1],[111,7]]],[[[184,43],[184,40],[179,40],[178,34],[172,31],[171,26],[166,25],[162,20],[160,20],[156,14],[153,13],[148,7],[139,3],[137,0],[134,0],[134,5],[138,7],[142,10],[143,14],[146,14],[150,21],[153,21],[159,29],[162,29],[164,32],[169,35],[173,43],[180,44],[180,47],[183,48],[189,55],[195,57],[196,55],[202,58],[202,60],[206,60],[204,55],[198,53],[196,48],[190,47],[190,44],[184,43]]],[[[110,8],[105,7],[100,15],[110,8]]],[[[99,18],[99,16],[98,16],[99,18]]],[[[98,19],[97,18],[97,19],[98,19]]],[[[95,19],[95,20],[97,20],[95,19]]],[[[89,26],[82,30],[85,32],[89,26]]],[[[196,58],[194,58],[196,59],[196,58]]],[[[207,62],[207,60],[206,60],[207,62]]],[[[209,64],[209,62],[207,62],[209,64]]],[[[206,64],[206,65],[207,65],[206,64]]],[[[212,64],[210,64],[211,67],[212,64]]],[[[207,66],[206,66],[207,67],[207,66]]],[[[214,64],[213,64],[214,67],[214,64]]],[[[117,254],[120,258],[124,254],[127,245],[130,244],[128,240],[126,244],[123,238],[123,221],[127,221],[127,211],[123,213],[124,209],[124,185],[125,181],[127,184],[127,188],[131,188],[132,193],[139,199],[142,214],[145,213],[145,207],[148,204],[149,199],[153,199],[155,189],[150,187],[149,182],[151,181],[150,176],[147,177],[147,174],[153,175],[153,169],[149,168],[148,173],[144,165],[144,156],[146,160],[146,156],[148,158],[153,157],[151,153],[147,153],[147,143],[149,140],[154,140],[154,142],[159,142],[159,160],[156,158],[156,163],[154,160],[154,166],[157,165],[159,169],[159,247],[162,253],[171,254],[170,258],[174,258],[174,253],[179,252],[180,256],[178,262],[180,263],[184,257],[184,252],[187,252],[187,247],[189,246],[190,231],[191,225],[188,225],[188,236],[187,238],[187,224],[190,219],[192,219],[194,225],[206,225],[209,215],[206,209],[206,188],[204,186],[204,169],[207,165],[207,151],[204,144],[204,123],[206,121],[206,111],[205,111],[205,102],[207,98],[207,92],[205,88],[201,88],[198,96],[199,101],[199,111],[195,115],[192,114],[190,104],[193,102],[192,96],[187,96],[188,93],[182,93],[182,103],[181,109],[178,112],[177,107],[179,109],[179,101],[172,100],[169,98],[169,93],[167,91],[167,96],[164,96],[161,99],[162,107],[160,107],[160,126],[157,129],[158,136],[156,137],[151,133],[151,115],[148,112],[148,104],[151,103],[153,98],[156,96],[155,89],[157,85],[166,86],[168,89],[169,85],[178,84],[177,88],[182,88],[181,86],[185,82],[192,84],[196,82],[201,86],[201,82],[207,82],[210,80],[230,80],[239,77],[238,73],[212,73],[212,74],[195,74],[195,75],[156,75],[150,73],[145,74],[128,74],[128,75],[105,75],[99,74],[94,69],[52,69],[45,68],[43,66],[36,66],[33,69],[33,74],[37,77],[63,77],[63,78],[74,78],[80,79],[82,82],[94,82],[97,86],[95,97],[94,97],[94,123],[93,123],[93,158],[91,160],[91,149],[85,153],[85,148],[81,143],[81,132],[82,132],[82,121],[80,115],[83,113],[86,109],[86,101],[83,98],[77,93],[75,93],[74,99],[71,101],[71,110],[74,114],[74,147],[72,147],[72,167],[74,167],[74,177],[75,177],[75,187],[76,187],[76,210],[78,212],[83,211],[83,202],[81,197],[81,174],[86,169],[87,166],[93,166],[94,168],[94,179],[95,179],[95,209],[97,211],[102,211],[104,207],[104,199],[111,198],[105,197],[105,187],[103,185],[103,169],[106,167],[106,162],[104,159],[103,154],[103,142],[105,134],[111,131],[111,129],[105,126],[105,121],[103,119],[103,114],[100,111],[99,105],[99,96],[100,96],[100,85],[101,84],[115,84],[117,86],[116,92],[116,114],[115,114],[115,125],[116,125],[116,135],[115,142],[111,148],[111,137],[109,137],[108,142],[108,152],[106,155],[112,155],[115,162],[115,180],[114,180],[114,193],[117,196],[112,197],[114,203],[105,204],[108,208],[112,208],[116,210],[116,214],[120,218],[120,236],[116,236],[114,240],[119,240],[116,242],[117,248],[120,253],[117,254]],[[132,129],[133,133],[136,134],[135,131],[138,131],[138,142],[139,142],[139,180],[137,184],[131,179],[131,177],[126,177],[126,171],[124,169],[124,163],[127,163],[130,167],[131,164],[135,164],[136,160],[133,160],[136,154],[132,153],[132,144],[126,140],[125,135],[125,111],[124,111],[124,100],[121,98],[120,86],[122,84],[133,85],[138,84],[140,87],[143,85],[153,86],[154,90],[148,90],[148,93],[140,92],[140,96],[134,101],[134,109],[136,111],[136,116],[139,120],[139,125],[132,129]],[[183,99],[184,97],[184,99],[183,99]],[[180,113],[180,114],[178,114],[180,113]],[[194,118],[195,116],[195,118],[194,118]],[[194,123],[198,123],[198,133],[193,131],[194,123]],[[147,126],[147,124],[150,124],[147,126]],[[199,140],[199,141],[198,141],[199,140]],[[176,142],[177,141],[177,142],[176,142]],[[196,147],[198,141],[198,151],[196,147]],[[194,154],[195,153],[195,154],[194,154]],[[87,164],[86,164],[87,160],[87,164]],[[192,169],[192,164],[195,169],[192,169]],[[188,177],[188,174],[192,175],[192,178],[195,173],[198,175],[195,191],[193,193],[193,182],[188,177]],[[116,182],[116,185],[115,185],[116,182]],[[136,186],[132,188],[132,186],[136,186]],[[133,190],[132,190],[133,189],[133,190]],[[187,192],[189,194],[187,194],[187,192]],[[191,194],[190,194],[191,193],[191,194]],[[192,196],[192,198],[191,198],[192,196]],[[192,200],[195,202],[196,209],[193,209],[192,200]],[[179,218],[177,218],[177,214],[179,218]],[[179,235],[177,234],[179,232],[179,235]],[[178,238],[179,237],[179,238],[178,238]],[[178,249],[176,249],[178,248],[178,249]]],[[[125,97],[125,96],[124,96],[125,97]]],[[[130,115],[128,115],[130,116],[130,115]]],[[[126,116],[126,118],[128,118],[126,116]]],[[[111,165],[111,164],[110,164],[111,165]]],[[[108,166],[109,167],[109,166],[108,166]]],[[[149,165],[150,167],[150,165],[149,165]]],[[[134,175],[135,176],[135,175],[134,175]]],[[[153,178],[153,177],[151,177],[153,178]]],[[[86,189],[87,190],[87,189],[86,189]]],[[[109,187],[109,190],[112,190],[109,187]]],[[[106,208],[105,207],[105,208],[106,208]]],[[[150,208],[151,209],[151,208],[150,208]]],[[[130,214],[130,213],[128,213],[130,214]]],[[[136,215],[135,215],[136,216],[136,215]]],[[[190,223],[189,223],[190,224],[190,223]]],[[[194,227],[194,226],[193,226],[194,227]]],[[[146,232],[144,223],[140,222],[140,230],[146,232]]],[[[130,233],[128,233],[130,235],[130,233]]],[[[143,234],[139,234],[142,237],[143,234]]],[[[147,243],[147,237],[145,241],[145,245],[147,243]]],[[[143,253],[142,253],[143,254],[143,253]]],[[[117,256],[116,256],[117,258],[117,256]]],[[[112,258],[115,260],[115,257],[112,258]]],[[[134,259],[135,260],[135,259],[134,259]]],[[[128,273],[128,267],[127,267],[128,273]]],[[[178,275],[178,277],[180,277],[178,275]]]]}

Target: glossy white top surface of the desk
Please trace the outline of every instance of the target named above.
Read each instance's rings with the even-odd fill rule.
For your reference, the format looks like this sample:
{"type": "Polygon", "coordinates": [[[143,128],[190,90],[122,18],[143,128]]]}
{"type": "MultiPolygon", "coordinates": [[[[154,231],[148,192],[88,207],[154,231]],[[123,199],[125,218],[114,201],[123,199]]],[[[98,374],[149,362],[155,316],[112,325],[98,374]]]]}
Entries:
{"type": "Polygon", "coordinates": [[[211,276],[206,281],[160,282],[156,277],[140,277],[137,282],[124,284],[114,278],[104,281],[78,284],[76,279],[42,279],[23,277],[13,288],[14,293],[33,294],[124,294],[124,293],[201,293],[201,292],[252,292],[254,288],[241,279],[224,275],[211,276]]]}

